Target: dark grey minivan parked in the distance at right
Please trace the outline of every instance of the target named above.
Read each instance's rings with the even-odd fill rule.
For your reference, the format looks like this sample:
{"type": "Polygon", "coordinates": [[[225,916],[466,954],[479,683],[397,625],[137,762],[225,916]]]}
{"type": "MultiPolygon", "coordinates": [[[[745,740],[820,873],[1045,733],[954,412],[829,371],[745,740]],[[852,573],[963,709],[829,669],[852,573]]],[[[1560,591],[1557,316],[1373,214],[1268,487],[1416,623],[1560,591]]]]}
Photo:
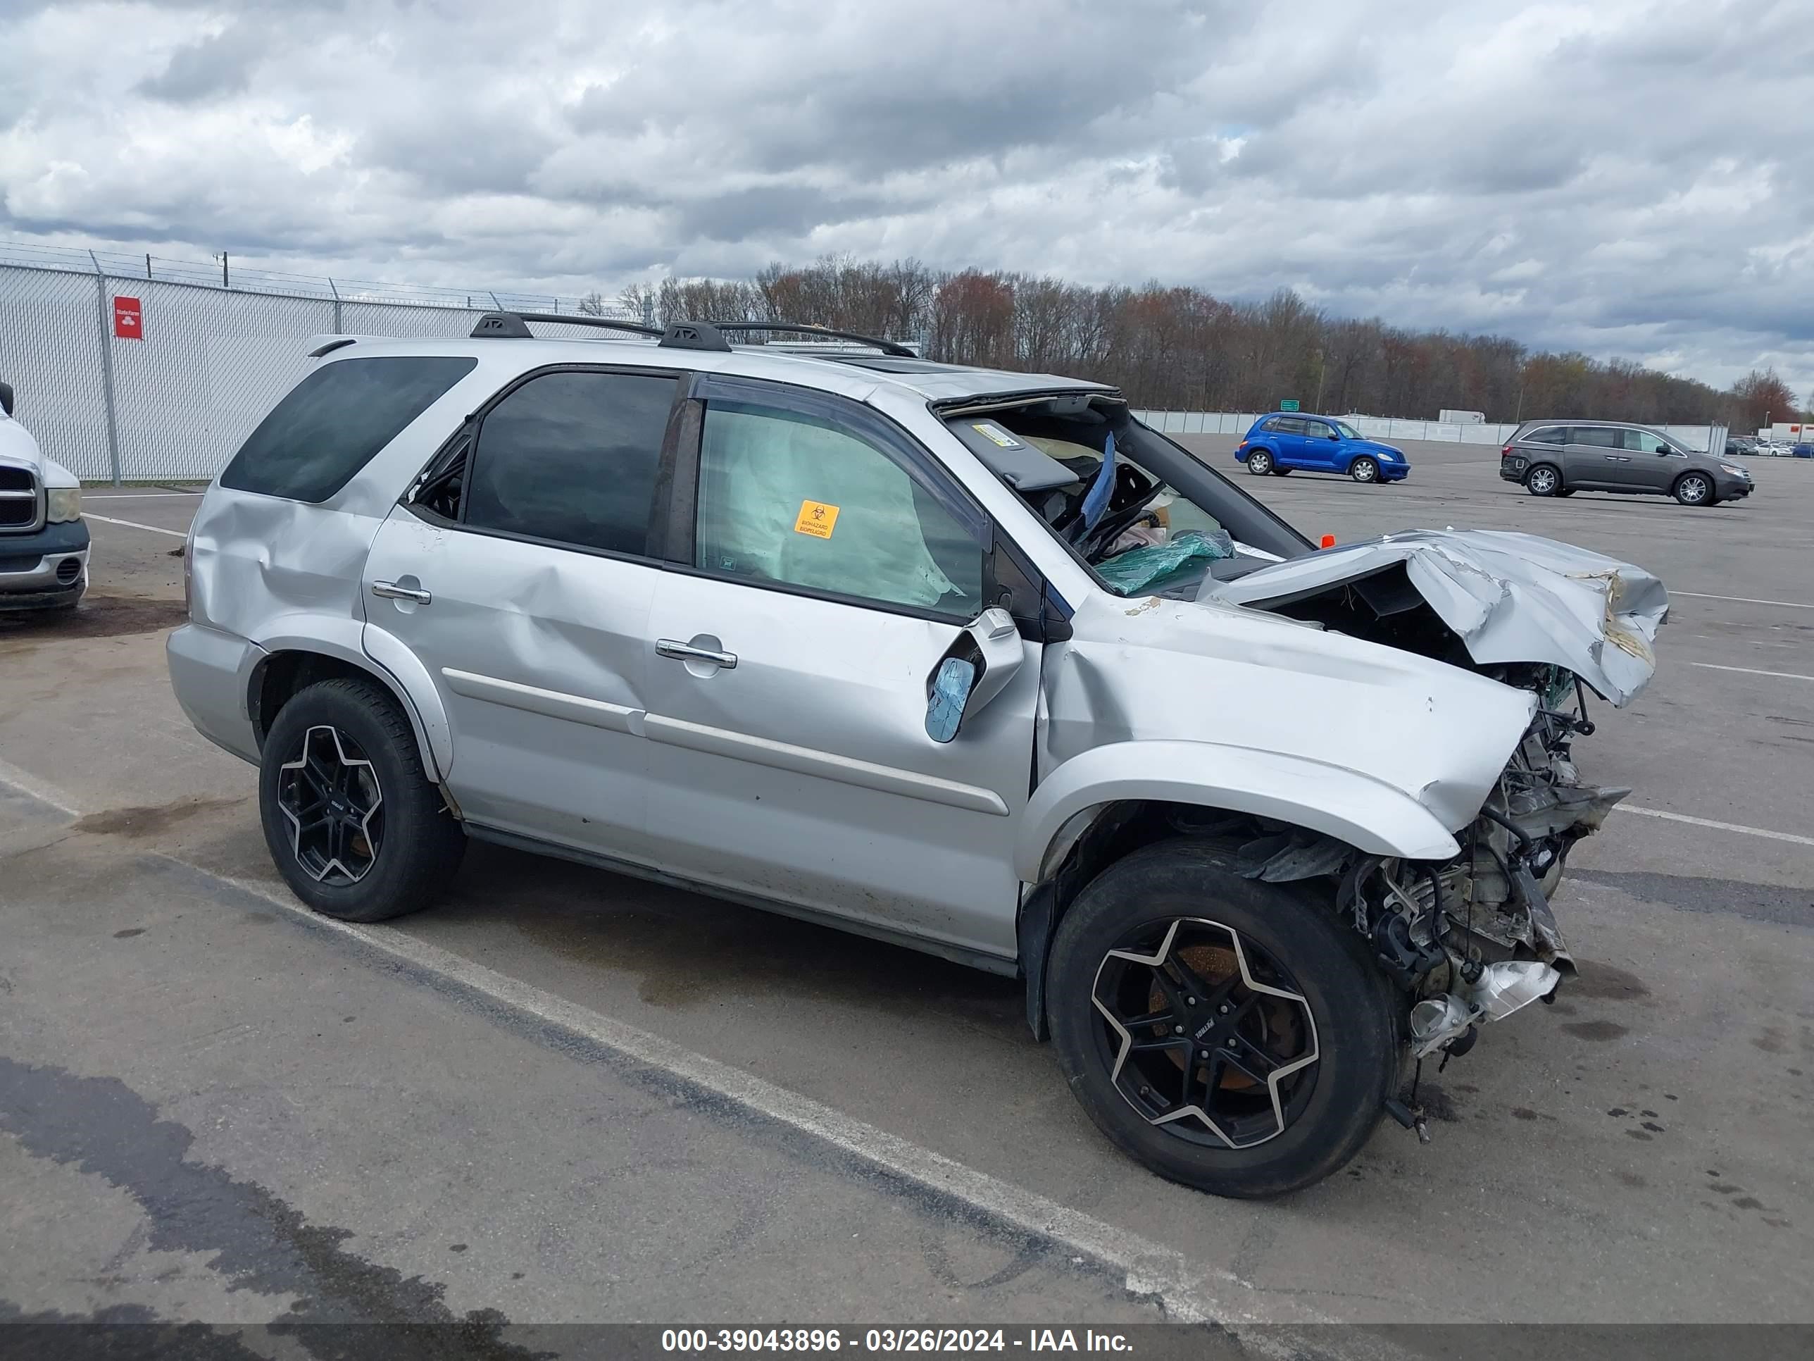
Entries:
{"type": "Polygon", "coordinates": [[[1647,425],[1526,421],[1498,452],[1498,475],[1531,495],[1624,492],[1712,506],[1751,495],[1741,463],[1691,450],[1647,425]]]}

